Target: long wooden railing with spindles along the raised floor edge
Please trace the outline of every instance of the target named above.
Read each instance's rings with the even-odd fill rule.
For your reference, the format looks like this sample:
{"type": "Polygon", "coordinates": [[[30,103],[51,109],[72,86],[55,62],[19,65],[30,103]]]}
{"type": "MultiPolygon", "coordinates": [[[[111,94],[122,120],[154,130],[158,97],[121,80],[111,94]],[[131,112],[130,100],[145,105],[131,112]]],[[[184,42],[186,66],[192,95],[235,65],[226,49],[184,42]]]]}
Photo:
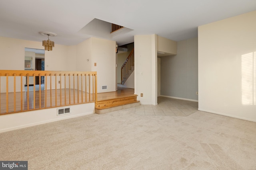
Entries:
{"type": "Polygon", "coordinates": [[[0,115],[88,102],[97,102],[96,72],[0,70],[0,115]]]}

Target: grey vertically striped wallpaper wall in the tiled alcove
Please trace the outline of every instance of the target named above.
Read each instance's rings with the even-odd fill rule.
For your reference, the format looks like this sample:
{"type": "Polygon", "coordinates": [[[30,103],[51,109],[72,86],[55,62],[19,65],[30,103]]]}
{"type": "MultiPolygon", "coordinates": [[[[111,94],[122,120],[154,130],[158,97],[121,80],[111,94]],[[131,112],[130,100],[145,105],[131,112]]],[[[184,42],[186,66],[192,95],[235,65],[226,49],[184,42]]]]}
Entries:
{"type": "Polygon", "coordinates": [[[177,42],[177,55],[161,58],[161,96],[198,100],[198,38],[177,42]]]}

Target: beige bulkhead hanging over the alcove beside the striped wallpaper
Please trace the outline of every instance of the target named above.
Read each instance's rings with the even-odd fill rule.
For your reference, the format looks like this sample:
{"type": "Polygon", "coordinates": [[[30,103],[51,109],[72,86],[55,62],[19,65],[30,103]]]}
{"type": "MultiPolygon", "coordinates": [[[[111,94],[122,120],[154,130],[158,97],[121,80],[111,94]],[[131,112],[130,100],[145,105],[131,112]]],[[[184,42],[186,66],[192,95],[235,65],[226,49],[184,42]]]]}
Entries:
{"type": "Polygon", "coordinates": [[[157,35],[157,51],[168,53],[168,55],[176,55],[177,42],[157,35]]]}

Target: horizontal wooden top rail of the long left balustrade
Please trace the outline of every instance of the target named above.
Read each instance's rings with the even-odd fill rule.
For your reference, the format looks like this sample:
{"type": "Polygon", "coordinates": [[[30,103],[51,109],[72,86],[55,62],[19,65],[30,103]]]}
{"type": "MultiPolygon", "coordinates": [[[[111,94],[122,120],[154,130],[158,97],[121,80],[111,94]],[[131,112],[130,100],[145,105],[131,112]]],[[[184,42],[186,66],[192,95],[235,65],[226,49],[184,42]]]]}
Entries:
{"type": "Polygon", "coordinates": [[[8,74],[9,76],[13,76],[14,74],[16,74],[16,76],[20,76],[20,74],[22,74],[22,76],[40,76],[39,74],[42,74],[41,76],[45,76],[47,74],[47,76],[50,76],[50,74],[53,74],[52,76],[54,76],[55,74],[58,75],[62,75],[64,76],[64,74],[79,74],[79,75],[88,75],[88,74],[97,74],[96,71],[48,71],[48,70],[0,70],[0,76],[6,76],[6,74],[8,74]],[[19,75],[18,75],[19,74],[19,75]]]}

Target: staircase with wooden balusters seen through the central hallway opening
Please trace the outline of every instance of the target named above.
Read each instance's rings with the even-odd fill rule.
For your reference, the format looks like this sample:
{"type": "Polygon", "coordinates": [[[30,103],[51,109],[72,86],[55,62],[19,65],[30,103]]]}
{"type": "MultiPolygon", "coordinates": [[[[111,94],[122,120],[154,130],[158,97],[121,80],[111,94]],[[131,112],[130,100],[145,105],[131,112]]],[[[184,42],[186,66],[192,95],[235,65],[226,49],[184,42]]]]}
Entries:
{"type": "Polygon", "coordinates": [[[134,49],[121,67],[121,83],[124,84],[134,71],[134,49]]]}

